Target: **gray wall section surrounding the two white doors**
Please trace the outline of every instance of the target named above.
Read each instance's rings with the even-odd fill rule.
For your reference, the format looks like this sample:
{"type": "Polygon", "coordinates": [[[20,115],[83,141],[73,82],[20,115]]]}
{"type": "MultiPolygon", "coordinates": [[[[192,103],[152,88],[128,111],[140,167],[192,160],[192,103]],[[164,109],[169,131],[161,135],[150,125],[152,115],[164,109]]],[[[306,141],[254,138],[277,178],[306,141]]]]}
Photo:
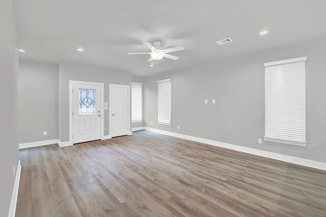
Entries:
{"type": "MultiPolygon", "coordinates": [[[[131,73],[63,62],[59,65],[59,139],[69,141],[69,80],[104,83],[104,102],[108,102],[109,84],[131,85],[131,73]]],[[[104,110],[104,135],[109,134],[108,110],[104,110]]]]}

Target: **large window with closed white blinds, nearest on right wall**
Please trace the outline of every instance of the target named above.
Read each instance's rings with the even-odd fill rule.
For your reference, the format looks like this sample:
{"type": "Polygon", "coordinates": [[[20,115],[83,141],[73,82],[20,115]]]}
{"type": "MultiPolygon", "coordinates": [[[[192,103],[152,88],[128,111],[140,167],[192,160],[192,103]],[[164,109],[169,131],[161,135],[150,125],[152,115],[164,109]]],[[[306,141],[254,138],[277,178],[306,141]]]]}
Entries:
{"type": "Polygon", "coordinates": [[[264,140],[306,146],[306,60],[264,64],[264,140]]]}

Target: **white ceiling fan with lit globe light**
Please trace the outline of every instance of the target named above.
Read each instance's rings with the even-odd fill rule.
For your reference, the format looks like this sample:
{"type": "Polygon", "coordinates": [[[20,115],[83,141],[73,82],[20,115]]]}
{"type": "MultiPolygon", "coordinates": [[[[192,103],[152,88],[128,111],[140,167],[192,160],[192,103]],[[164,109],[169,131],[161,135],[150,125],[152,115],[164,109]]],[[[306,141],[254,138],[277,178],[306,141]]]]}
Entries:
{"type": "Polygon", "coordinates": [[[158,49],[159,46],[161,45],[160,41],[154,41],[153,42],[154,46],[149,42],[143,42],[143,43],[149,49],[151,49],[151,52],[147,52],[147,53],[128,53],[128,54],[151,54],[151,57],[147,60],[148,62],[155,60],[155,62],[151,63],[151,64],[158,64],[158,60],[160,60],[163,57],[173,59],[173,60],[177,60],[177,59],[179,59],[179,57],[173,56],[173,55],[170,55],[170,54],[167,54],[167,53],[171,53],[171,52],[175,52],[175,51],[179,51],[179,50],[184,50],[184,48],[182,46],[177,46],[177,47],[172,47],[172,48],[160,50],[160,49],[158,49]]]}

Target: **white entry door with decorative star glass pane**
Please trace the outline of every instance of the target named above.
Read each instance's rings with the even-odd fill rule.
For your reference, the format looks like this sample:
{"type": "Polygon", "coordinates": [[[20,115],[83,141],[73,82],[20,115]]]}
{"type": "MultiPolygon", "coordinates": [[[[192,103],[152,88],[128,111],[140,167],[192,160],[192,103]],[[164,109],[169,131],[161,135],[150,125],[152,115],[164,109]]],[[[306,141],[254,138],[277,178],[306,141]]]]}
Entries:
{"type": "Polygon", "coordinates": [[[73,143],[101,139],[101,86],[73,84],[73,143]]]}

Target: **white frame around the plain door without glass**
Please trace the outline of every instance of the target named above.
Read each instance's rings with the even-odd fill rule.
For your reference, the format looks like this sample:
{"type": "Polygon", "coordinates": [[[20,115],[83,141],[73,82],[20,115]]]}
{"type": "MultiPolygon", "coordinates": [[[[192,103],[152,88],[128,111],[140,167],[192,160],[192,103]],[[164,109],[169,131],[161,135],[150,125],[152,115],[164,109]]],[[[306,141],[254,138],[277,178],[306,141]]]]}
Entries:
{"type": "Polygon", "coordinates": [[[108,128],[110,132],[110,136],[112,137],[112,87],[127,87],[128,88],[128,135],[132,135],[131,128],[130,128],[130,115],[131,115],[131,105],[130,105],[130,85],[122,85],[122,84],[109,84],[109,94],[110,97],[108,98],[108,128]]]}

